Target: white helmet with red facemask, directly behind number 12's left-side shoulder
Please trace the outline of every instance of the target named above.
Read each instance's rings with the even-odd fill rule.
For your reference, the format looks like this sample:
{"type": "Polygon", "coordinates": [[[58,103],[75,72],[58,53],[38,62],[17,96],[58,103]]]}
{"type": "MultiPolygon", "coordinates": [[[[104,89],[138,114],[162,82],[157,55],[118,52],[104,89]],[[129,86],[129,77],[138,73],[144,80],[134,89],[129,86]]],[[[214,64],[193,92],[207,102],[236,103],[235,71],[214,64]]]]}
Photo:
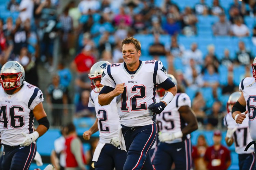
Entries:
{"type": "Polygon", "coordinates": [[[109,65],[110,63],[107,61],[100,61],[95,63],[91,69],[89,75],[89,79],[91,80],[91,88],[96,92],[100,92],[103,85],[96,84],[97,81],[101,81],[101,75],[104,71],[104,69],[109,65]]]}

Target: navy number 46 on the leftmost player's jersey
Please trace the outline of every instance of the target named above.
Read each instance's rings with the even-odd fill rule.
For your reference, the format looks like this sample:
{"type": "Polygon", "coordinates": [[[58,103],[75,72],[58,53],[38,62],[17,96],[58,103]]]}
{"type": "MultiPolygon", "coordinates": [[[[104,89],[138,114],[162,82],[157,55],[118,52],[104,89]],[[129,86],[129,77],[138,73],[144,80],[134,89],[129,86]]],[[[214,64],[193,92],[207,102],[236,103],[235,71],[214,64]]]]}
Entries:
{"type": "MultiPolygon", "coordinates": [[[[21,128],[24,126],[24,117],[16,116],[15,109],[18,109],[19,112],[24,112],[24,108],[20,106],[12,106],[10,107],[10,119],[11,119],[11,127],[12,128],[21,128]],[[18,123],[17,123],[18,122],[18,123]]],[[[4,129],[8,129],[8,118],[6,114],[6,105],[1,105],[0,107],[0,123],[3,124],[4,129]]]]}

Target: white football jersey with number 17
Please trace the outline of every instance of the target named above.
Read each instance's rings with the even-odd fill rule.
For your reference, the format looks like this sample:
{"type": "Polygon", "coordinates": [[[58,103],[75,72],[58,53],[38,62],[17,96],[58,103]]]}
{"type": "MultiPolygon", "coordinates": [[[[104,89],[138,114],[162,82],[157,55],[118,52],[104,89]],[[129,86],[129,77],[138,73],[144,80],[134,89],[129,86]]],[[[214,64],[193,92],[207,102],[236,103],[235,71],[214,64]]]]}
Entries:
{"type": "Polygon", "coordinates": [[[237,130],[233,134],[233,140],[236,153],[238,154],[254,152],[254,145],[252,145],[246,152],[244,151],[248,143],[252,141],[249,134],[248,121],[248,116],[246,116],[242,124],[236,123],[236,121],[232,118],[231,112],[224,117],[224,125],[227,126],[227,128],[233,129],[237,127],[237,130]]]}

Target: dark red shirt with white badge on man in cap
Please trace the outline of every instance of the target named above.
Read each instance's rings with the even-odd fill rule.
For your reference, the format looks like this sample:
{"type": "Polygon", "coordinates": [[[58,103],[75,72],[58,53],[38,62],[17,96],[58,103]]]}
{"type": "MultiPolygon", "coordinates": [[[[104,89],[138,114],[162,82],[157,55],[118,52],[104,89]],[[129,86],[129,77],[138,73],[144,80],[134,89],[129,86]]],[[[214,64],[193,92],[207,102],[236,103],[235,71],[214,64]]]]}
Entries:
{"type": "Polygon", "coordinates": [[[209,170],[226,170],[226,163],[231,161],[230,151],[221,145],[219,150],[214,150],[214,146],[207,148],[204,160],[208,162],[209,170]]]}

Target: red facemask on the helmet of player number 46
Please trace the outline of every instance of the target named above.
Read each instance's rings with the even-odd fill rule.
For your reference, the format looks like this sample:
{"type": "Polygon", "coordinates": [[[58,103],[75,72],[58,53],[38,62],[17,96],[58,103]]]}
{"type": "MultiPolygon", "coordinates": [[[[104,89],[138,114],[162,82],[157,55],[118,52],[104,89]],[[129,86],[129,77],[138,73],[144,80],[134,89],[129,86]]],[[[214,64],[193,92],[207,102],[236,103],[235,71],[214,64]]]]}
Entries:
{"type": "Polygon", "coordinates": [[[22,77],[22,72],[18,73],[1,73],[1,84],[4,90],[12,90],[21,86],[20,78],[22,77]],[[12,79],[5,80],[6,77],[13,75],[12,79]]]}

